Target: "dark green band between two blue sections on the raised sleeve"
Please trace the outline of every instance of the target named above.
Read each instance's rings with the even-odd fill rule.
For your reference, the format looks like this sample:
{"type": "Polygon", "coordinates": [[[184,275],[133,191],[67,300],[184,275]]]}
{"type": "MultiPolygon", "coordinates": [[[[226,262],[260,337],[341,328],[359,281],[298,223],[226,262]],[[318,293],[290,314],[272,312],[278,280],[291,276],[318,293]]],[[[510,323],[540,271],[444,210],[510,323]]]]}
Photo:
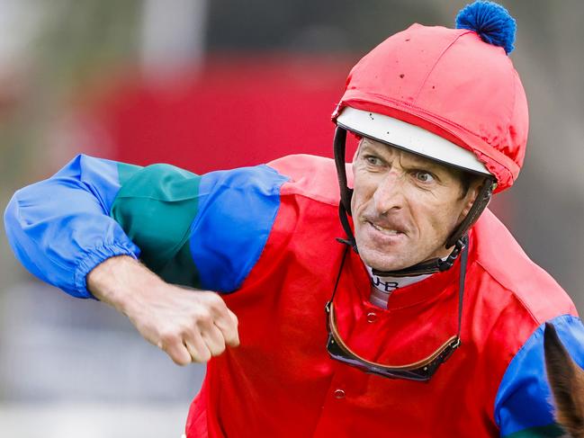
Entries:
{"type": "Polygon", "coordinates": [[[141,250],[140,260],[166,282],[196,287],[189,248],[201,176],[174,165],[119,165],[120,192],[110,216],[141,250]]]}

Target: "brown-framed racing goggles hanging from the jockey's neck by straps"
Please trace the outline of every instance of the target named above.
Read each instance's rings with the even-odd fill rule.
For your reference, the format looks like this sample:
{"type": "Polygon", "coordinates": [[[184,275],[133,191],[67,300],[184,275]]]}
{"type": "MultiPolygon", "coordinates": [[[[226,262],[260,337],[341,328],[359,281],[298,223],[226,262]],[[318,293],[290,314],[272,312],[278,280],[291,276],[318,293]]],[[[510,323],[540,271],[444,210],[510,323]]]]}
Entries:
{"type": "MultiPolygon", "coordinates": [[[[378,362],[372,362],[359,356],[353,352],[351,348],[343,341],[343,338],[337,330],[337,318],[335,317],[335,307],[333,300],[337,293],[338,281],[340,279],[343,265],[345,264],[346,253],[343,255],[341,267],[337,274],[337,282],[332,296],[325,306],[325,313],[327,315],[327,332],[328,342],[327,351],[330,357],[338,362],[346,363],[361,371],[386,377],[389,379],[403,379],[403,380],[418,380],[428,381],[434,376],[441,364],[446,362],[448,358],[461,344],[461,321],[463,317],[463,292],[464,292],[464,277],[466,274],[466,262],[468,259],[468,247],[466,246],[466,239],[461,239],[461,272],[459,276],[458,287],[458,331],[456,335],[450,337],[444,344],[442,344],[436,352],[430,354],[426,358],[409,363],[406,365],[388,365],[378,362]]],[[[348,247],[347,247],[348,249],[348,247]]]]}

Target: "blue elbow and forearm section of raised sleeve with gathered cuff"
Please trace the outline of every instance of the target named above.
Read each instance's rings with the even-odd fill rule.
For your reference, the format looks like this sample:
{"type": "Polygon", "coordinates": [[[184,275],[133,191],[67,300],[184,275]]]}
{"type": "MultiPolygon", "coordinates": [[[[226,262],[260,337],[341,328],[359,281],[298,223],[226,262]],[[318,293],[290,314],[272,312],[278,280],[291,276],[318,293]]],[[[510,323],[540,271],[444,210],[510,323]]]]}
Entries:
{"type": "Polygon", "coordinates": [[[119,190],[115,162],[79,155],[49,179],[15,192],[4,212],[14,255],[40,280],[91,298],[87,273],[113,255],[140,253],[108,216],[119,190]]]}

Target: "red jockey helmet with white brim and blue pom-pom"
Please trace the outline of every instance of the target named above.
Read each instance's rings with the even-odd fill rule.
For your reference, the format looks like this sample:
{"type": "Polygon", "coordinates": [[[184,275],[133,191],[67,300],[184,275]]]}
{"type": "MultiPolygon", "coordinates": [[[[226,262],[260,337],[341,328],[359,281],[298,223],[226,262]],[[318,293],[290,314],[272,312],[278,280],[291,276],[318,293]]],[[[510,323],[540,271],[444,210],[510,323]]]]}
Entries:
{"type": "Polygon", "coordinates": [[[413,24],[351,70],[333,121],[346,130],[497,180],[517,179],[526,153],[526,94],[508,52],[515,20],[476,2],[459,29],[413,24]]]}

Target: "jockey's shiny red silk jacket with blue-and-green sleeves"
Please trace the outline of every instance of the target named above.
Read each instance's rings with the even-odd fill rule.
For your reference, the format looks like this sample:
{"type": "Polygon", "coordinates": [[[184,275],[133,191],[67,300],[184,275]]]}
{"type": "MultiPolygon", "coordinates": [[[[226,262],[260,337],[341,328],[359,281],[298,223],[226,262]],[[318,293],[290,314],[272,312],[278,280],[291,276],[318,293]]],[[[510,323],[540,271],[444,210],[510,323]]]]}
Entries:
{"type": "MultiPolygon", "coordinates": [[[[565,292],[489,211],[470,234],[463,344],[432,380],[383,379],[329,358],[324,305],[344,250],[338,201],[334,163],[316,156],[201,176],[76,156],[16,192],[4,223],[22,264],[76,297],[91,298],[85,275],[112,255],[223,294],[241,345],[209,363],[189,437],[559,436],[543,324],[553,322],[580,365],[584,330],[565,292]]],[[[351,254],[338,328],[365,358],[414,362],[455,333],[458,270],[377,308],[351,254]]]]}

